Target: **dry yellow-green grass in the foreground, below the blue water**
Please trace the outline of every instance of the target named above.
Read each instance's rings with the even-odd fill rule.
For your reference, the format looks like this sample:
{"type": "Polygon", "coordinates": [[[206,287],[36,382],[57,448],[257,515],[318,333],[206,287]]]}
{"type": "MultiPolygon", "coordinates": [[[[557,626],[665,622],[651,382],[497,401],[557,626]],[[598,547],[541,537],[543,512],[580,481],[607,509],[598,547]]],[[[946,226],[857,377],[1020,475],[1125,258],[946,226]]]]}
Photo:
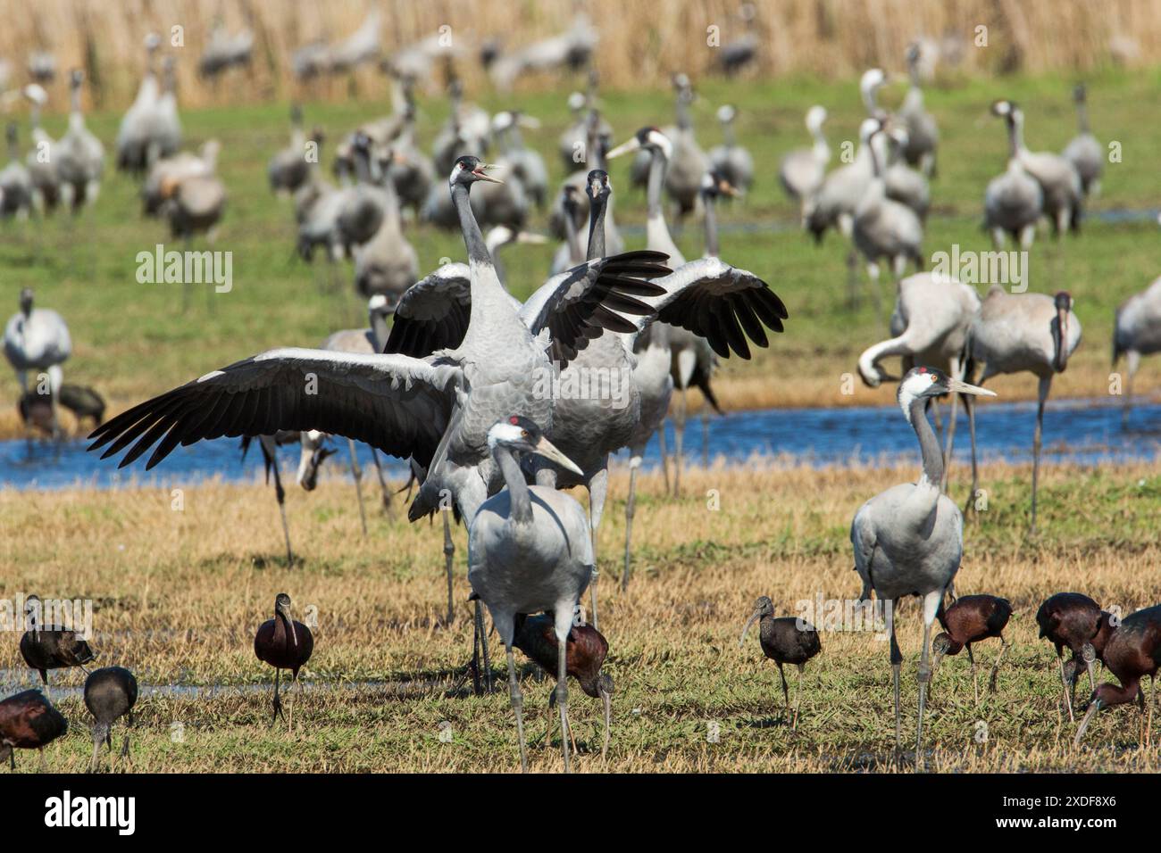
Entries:
{"type": "MultiPolygon", "coordinates": [[[[962,500],[962,470],[952,494],[962,500]],[[959,480],[959,482],[957,482],[959,480]]],[[[987,465],[990,504],[965,530],[960,594],[1011,600],[1012,644],[998,693],[972,695],[965,656],[937,673],[928,717],[928,767],[936,771],[1159,771],[1158,751],[1139,749],[1138,714],[1102,713],[1084,746],[1059,697],[1054,655],[1036,638],[1036,608],[1048,594],[1081,590],[1127,614],[1156,601],[1161,478],[1155,467],[1048,465],[1041,483],[1041,534],[1025,535],[1027,467],[987,465]],[[986,732],[986,737],[981,735],[986,732]]],[[[663,497],[658,476],[642,480],[634,580],[615,590],[623,535],[623,474],[613,477],[601,528],[601,627],[606,671],[616,682],[613,738],[601,761],[599,703],[570,689],[580,772],[890,771],[893,722],[887,643],[867,632],[824,632],[807,667],[798,733],[781,722],[781,691],[756,637],[738,648],[753,599],[770,595],[779,615],[796,602],[857,595],[848,541],[858,506],[894,470],[693,471],[686,497],[663,497]],[[717,490],[720,508],[708,508],[717,490]],[[808,500],[802,496],[809,494],[808,500]],[[720,737],[709,743],[709,727],[720,737]]],[[[463,533],[456,533],[456,620],[444,608],[438,527],[372,513],[358,534],[351,486],[325,480],[288,499],[303,564],[288,571],[268,489],[209,484],[187,490],[185,511],[158,490],[0,492],[6,519],[0,597],[95,600],[94,645],[102,665],[131,667],[145,685],[225,685],[210,699],[152,696],[138,706],[135,746],[124,769],[196,771],[514,771],[515,727],[507,692],[474,697],[461,674],[470,651],[463,533]],[[289,592],[298,619],[318,608],[310,684],[294,696],[296,728],[268,728],[272,672],[253,657],[252,637],[275,593],[289,592]],[[369,684],[368,684],[369,682],[369,684]],[[261,686],[261,687],[259,687],[261,686]],[[241,689],[235,689],[241,688],[241,689]],[[450,743],[439,739],[447,721],[450,743]],[[180,724],[176,727],[175,724],[180,724]],[[181,732],[179,740],[174,732],[181,732]]],[[[914,737],[920,623],[903,605],[900,643],[903,725],[914,737]]],[[[492,638],[502,677],[502,648],[492,638]]],[[[985,671],[998,644],[976,648],[985,671]]],[[[0,668],[22,671],[15,635],[0,643],[0,668]]],[[[558,771],[556,740],[543,744],[550,682],[525,666],[532,767],[558,771]]],[[[1105,674],[1108,678],[1108,675],[1105,674]]],[[[77,686],[80,673],[56,673],[77,686]]],[[[793,688],[792,688],[793,689],[793,688]]],[[[1077,692],[1083,703],[1088,688],[1077,692]]],[[[50,767],[80,771],[92,745],[79,697],[60,700],[72,723],[48,750],[50,767]]],[[[121,731],[116,744],[120,747],[121,731]]],[[[19,757],[33,771],[35,757],[19,757]]]]}

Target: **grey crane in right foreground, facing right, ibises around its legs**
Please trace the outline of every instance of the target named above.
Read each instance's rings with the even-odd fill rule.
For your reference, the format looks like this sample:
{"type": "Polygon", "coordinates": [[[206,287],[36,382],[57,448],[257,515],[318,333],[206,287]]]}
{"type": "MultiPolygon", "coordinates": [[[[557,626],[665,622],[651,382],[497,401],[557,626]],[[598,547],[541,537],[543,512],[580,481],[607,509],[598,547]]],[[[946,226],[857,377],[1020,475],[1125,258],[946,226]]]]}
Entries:
{"type": "Polygon", "coordinates": [[[904,483],[880,492],[865,503],[851,523],[854,570],[863,579],[863,600],[871,593],[889,607],[890,665],[895,695],[895,747],[901,740],[899,700],[903,656],[895,639],[899,600],[917,595],[923,600],[923,646],[920,656],[920,702],[915,736],[915,766],[922,761],[923,711],[931,680],[929,662],[931,624],[964,552],[964,516],[943,493],[943,455],[924,407],[929,398],[944,393],[988,395],[993,391],[969,385],[928,367],[911,369],[899,385],[900,409],[920,442],[923,470],[916,483],[904,483]]]}

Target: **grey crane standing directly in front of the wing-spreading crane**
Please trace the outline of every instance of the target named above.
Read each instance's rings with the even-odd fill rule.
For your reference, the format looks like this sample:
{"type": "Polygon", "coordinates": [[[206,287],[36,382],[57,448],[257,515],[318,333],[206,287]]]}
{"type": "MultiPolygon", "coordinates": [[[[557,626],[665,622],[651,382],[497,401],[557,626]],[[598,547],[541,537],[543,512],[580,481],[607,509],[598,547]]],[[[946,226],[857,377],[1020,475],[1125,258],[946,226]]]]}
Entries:
{"type": "MultiPolygon", "coordinates": [[[[545,436],[535,421],[520,415],[488,431],[488,446],[505,489],[485,500],[468,527],[468,583],[491,613],[507,652],[509,692],[520,740],[520,769],[527,772],[524,699],[517,681],[512,644],[517,614],[551,610],[557,639],[556,706],[561,750],[569,772],[568,673],[565,643],[572,614],[593,570],[589,523],[571,497],[547,486],[528,486],[519,454],[538,454],[579,474],[545,436]]],[[[478,620],[477,620],[478,622],[478,620]]]]}

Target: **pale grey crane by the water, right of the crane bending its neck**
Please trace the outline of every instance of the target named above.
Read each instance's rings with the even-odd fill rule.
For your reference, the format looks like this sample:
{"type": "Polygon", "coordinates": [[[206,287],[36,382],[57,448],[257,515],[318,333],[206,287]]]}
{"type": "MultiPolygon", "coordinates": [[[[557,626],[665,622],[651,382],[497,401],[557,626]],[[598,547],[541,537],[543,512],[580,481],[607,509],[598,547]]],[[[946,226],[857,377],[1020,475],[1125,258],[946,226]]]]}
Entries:
{"type": "MultiPolygon", "coordinates": [[[[1036,431],[1032,433],[1032,522],[1036,533],[1036,494],[1040,477],[1040,433],[1044,404],[1052,390],[1052,377],[1063,373],[1068,359],[1080,346],[1081,324],[1073,313],[1073,297],[1061,290],[1047,294],[1009,294],[993,284],[983,299],[980,315],[968,334],[968,370],[973,378],[975,364],[983,363],[982,384],[998,374],[1031,373],[1037,388],[1036,431]]],[[[967,403],[967,400],[965,400],[967,403]]],[[[975,455],[975,406],[967,406],[972,436],[972,492],[968,506],[974,506],[979,476],[975,455]]]]}

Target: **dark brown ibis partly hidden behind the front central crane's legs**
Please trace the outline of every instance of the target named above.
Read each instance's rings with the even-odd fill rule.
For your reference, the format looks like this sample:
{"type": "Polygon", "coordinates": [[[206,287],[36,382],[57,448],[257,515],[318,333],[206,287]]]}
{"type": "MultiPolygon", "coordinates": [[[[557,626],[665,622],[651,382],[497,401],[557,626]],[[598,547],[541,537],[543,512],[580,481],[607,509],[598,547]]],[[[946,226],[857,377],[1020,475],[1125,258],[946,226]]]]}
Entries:
{"type": "MultiPolygon", "coordinates": [[[[556,629],[551,614],[526,616],[518,613],[512,645],[538,663],[549,675],[557,671],[556,629]]],[[[613,717],[613,679],[607,673],[601,672],[607,656],[608,641],[600,631],[590,624],[572,626],[564,645],[564,668],[569,675],[577,680],[582,691],[605,703],[605,740],[600,747],[601,758],[608,751],[610,728],[613,717]]],[[[549,697],[550,708],[555,699],[556,694],[553,693],[549,697]]],[[[571,725],[569,727],[569,736],[572,736],[571,725]]],[[[576,749],[574,739],[572,750],[576,751],[576,749]]]]}

